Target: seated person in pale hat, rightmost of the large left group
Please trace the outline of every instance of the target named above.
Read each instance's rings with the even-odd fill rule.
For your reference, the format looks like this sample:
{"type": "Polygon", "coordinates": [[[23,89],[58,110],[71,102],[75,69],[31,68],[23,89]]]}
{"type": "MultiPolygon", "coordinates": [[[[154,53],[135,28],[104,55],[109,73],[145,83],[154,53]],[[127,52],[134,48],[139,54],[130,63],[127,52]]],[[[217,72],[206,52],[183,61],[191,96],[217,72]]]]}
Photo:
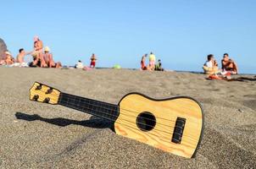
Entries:
{"type": "Polygon", "coordinates": [[[53,54],[50,53],[50,48],[46,46],[44,48],[44,53],[42,54],[42,67],[47,68],[61,68],[61,63],[54,63],[53,54]]]}

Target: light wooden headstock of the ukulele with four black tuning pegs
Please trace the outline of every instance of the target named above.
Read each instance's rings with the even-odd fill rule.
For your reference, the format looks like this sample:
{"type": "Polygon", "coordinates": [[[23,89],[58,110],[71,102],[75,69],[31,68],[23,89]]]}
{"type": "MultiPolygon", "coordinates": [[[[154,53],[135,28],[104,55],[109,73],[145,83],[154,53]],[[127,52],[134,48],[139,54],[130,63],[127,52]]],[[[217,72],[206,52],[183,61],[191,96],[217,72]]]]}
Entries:
{"type": "Polygon", "coordinates": [[[60,91],[47,85],[35,82],[30,90],[30,100],[52,105],[58,104],[60,91]]]}

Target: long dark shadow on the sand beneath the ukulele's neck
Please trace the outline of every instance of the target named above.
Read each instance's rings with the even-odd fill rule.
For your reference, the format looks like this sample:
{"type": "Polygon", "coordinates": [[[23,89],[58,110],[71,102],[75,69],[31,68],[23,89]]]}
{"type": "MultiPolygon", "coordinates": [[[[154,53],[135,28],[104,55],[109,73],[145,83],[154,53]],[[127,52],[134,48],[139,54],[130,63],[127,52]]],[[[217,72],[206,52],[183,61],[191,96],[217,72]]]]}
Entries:
{"type": "Polygon", "coordinates": [[[71,119],[62,118],[62,117],[45,118],[37,114],[30,115],[30,114],[25,114],[24,112],[16,112],[15,117],[17,119],[25,120],[29,122],[38,120],[38,121],[50,123],[56,126],[60,126],[60,127],[66,127],[66,126],[69,126],[70,124],[75,124],[75,125],[81,125],[88,128],[110,128],[114,130],[113,129],[114,123],[109,122],[103,118],[95,117],[95,116],[92,116],[89,120],[77,121],[77,120],[71,120],[71,119]]]}

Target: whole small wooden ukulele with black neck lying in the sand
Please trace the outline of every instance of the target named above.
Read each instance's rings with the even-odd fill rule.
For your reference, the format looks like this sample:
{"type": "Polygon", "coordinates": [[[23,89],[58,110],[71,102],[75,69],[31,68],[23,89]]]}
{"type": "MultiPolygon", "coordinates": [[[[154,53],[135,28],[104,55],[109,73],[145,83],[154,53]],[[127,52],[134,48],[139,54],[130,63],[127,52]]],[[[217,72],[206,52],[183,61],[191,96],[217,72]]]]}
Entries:
{"type": "Polygon", "coordinates": [[[186,96],[155,100],[130,93],[114,105],[35,82],[30,100],[102,117],[114,123],[116,134],[186,158],[195,156],[203,135],[203,108],[198,101],[186,96]]]}

